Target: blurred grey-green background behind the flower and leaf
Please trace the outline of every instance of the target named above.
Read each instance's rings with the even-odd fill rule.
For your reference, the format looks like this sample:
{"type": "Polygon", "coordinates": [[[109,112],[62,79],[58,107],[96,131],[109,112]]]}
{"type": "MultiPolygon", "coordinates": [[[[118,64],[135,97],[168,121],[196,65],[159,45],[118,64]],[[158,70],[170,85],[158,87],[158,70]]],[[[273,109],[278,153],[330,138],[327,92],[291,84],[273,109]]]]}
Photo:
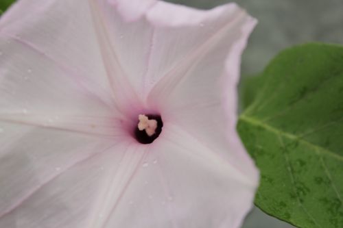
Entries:
{"type": "MultiPolygon", "coordinates": [[[[13,0],[0,0],[0,9],[13,0]]],[[[208,9],[228,0],[166,0],[208,9]]],[[[237,0],[259,20],[242,59],[242,77],[256,75],[282,49],[304,42],[343,44],[342,0],[237,0]]],[[[1,13],[1,10],[0,10],[1,13]]],[[[343,63],[342,63],[343,64],[343,63]]],[[[290,228],[254,208],[244,228],[290,228]]]]}

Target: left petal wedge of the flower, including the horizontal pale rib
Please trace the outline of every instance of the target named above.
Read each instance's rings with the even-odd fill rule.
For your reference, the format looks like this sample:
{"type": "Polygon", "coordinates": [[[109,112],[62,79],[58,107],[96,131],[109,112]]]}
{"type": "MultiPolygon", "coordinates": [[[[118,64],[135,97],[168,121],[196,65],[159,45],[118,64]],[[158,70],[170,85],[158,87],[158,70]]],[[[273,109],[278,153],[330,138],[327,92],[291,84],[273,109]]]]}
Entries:
{"type": "Polygon", "coordinates": [[[0,36],[0,121],[114,136],[119,114],[54,62],[0,36]],[[10,41],[10,43],[8,43],[10,41]]]}

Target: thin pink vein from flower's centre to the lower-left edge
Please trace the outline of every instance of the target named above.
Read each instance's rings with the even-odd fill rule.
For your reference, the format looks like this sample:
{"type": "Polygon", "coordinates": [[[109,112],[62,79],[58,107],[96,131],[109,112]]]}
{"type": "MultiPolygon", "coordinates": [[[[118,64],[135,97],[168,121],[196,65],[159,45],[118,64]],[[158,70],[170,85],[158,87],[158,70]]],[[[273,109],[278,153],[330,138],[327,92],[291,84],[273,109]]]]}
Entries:
{"type": "Polygon", "coordinates": [[[38,192],[38,190],[44,188],[45,186],[47,186],[47,184],[49,184],[51,181],[54,181],[55,179],[57,179],[58,177],[60,177],[60,175],[62,175],[63,173],[67,172],[68,170],[71,170],[71,168],[78,166],[80,164],[84,164],[86,162],[88,162],[88,160],[91,160],[93,157],[97,157],[97,155],[101,154],[101,153],[106,153],[106,151],[110,150],[111,148],[115,147],[115,144],[111,145],[110,147],[104,149],[104,151],[99,152],[99,153],[94,153],[92,155],[89,155],[88,157],[85,157],[82,160],[79,160],[78,162],[75,162],[73,164],[71,164],[69,167],[64,168],[63,170],[60,171],[60,173],[53,175],[52,177],[50,177],[50,179],[47,179],[44,183],[40,184],[40,186],[37,186],[36,188],[34,188],[31,192],[29,192],[28,194],[25,195],[25,197],[23,197],[22,199],[20,199],[18,201],[18,203],[16,203],[15,205],[13,205],[12,207],[10,207],[7,211],[3,212],[2,214],[0,214],[0,219],[7,216],[8,214],[12,213],[14,210],[16,210],[16,208],[20,207],[23,203],[25,203],[25,201],[27,201],[30,197],[32,197],[36,192],[38,192]]]}

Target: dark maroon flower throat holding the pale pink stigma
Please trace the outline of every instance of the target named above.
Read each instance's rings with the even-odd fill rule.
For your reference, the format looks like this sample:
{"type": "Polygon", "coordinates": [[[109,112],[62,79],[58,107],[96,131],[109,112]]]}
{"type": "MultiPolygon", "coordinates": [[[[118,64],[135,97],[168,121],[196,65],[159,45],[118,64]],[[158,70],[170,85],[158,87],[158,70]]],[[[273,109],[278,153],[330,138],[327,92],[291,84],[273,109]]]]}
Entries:
{"type": "Polygon", "coordinates": [[[134,129],[134,136],[138,142],[149,144],[161,134],[163,127],[162,118],[159,115],[140,114],[138,116],[138,124],[134,129]]]}

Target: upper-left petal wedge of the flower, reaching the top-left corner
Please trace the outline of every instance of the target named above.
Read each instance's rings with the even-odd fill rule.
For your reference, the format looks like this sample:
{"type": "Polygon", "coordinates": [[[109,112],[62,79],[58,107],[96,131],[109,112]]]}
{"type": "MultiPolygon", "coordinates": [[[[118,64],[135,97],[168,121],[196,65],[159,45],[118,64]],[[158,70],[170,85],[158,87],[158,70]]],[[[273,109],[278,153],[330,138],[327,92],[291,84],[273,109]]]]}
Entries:
{"type": "MultiPolygon", "coordinates": [[[[15,42],[18,49],[35,49],[102,99],[108,101],[111,97],[87,1],[18,1],[1,18],[0,36],[15,42]]],[[[10,54],[1,51],[3,56],[10,54]]],[[[21,56],[29,65],[31,56],[21,56]]]]}

